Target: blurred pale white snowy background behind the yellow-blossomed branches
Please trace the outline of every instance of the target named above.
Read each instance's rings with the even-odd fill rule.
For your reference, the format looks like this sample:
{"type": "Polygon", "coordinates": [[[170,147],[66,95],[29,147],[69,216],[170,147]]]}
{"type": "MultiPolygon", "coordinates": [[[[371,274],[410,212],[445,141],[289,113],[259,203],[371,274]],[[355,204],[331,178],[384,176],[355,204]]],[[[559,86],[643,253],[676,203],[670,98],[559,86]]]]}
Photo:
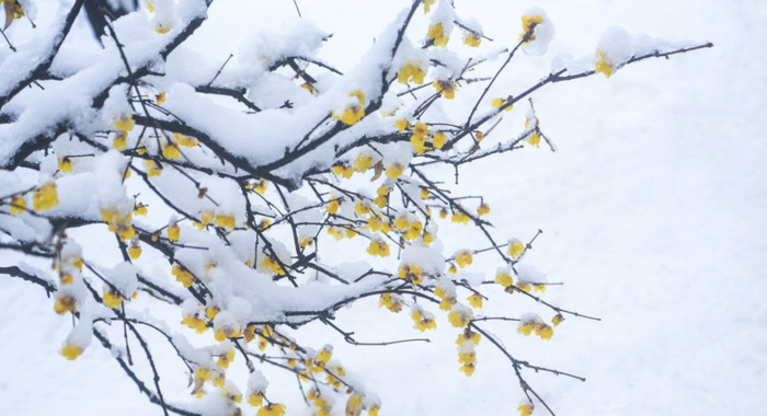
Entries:
{"type": "MultiPolygon", "coordinates": [[[[541,128],[559,151],[528,148],[490,159],[466,170],[461,181],[489,198],[496,230],[520,236],[543,230],[530,261],[549,280],[565,282],[550,289],[553,299],[603,319],[568,319],[550,342],[492,326],[518,358],[586,377],[585,383],[530,377],[558,414],[767,414],[767,5],[455,3],[500,45],[516,42],[529,5],[547,11],[554,41],[543,57],[515,59],[510,73],[523,79],[546,73],[557,53],[593,54],[614,24],[714,44],[632,65],[610,79],[540,91],[534,99],[541,128]]],[[[333,33],[325,60],[348,70],[405,2],[298,4],[305,18],[333,33]]],[[[217,0],[192,42],[222,60],[254,25],[278,27],[294,19],[289,0],[217,0]]],[[[499,91],[506,91],[504,82],[519,85],[507,78],[499,91]]],[[[503,128],[520,131],[513,123],[503,128]]],[[[3,277],[0,310],[0,414],[161,414],[102,348],[94,345],[76,361],[61,358],[69,322],[51,313],[39,288],[3,277]]],[[[340,313],[339,322],[362,340],[397,336],[412,324],[373,302],[340,313]]],[[[477,372],[461,374],[453,332],[438,331],[431,344],[386,348],[344,345],[322,326],[308,332],[317,344],[332,343],[334,356],[364,375],[382,401],[381,415],[515,414],[522,397],[511,365],[488,345],[478,347],[477,372]]],[[[309,414],[297,397],[287,404],[289,415],[309,414]]]]}

